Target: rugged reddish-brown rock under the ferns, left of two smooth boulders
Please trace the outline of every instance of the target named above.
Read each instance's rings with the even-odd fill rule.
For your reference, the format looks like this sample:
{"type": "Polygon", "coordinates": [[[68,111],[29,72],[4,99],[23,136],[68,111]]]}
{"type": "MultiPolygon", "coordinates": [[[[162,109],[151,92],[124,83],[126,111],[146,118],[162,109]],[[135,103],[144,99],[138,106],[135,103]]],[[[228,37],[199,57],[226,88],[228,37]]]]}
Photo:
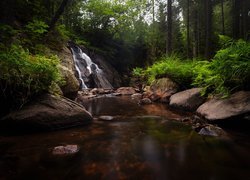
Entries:
{"type": "Polygon", "coordinates": [[[178,91],[178,85],[169,78],[155,80],[149,90],[144,93],[145,98],[152,101],[169,102],[171,95],[178,91]]]}

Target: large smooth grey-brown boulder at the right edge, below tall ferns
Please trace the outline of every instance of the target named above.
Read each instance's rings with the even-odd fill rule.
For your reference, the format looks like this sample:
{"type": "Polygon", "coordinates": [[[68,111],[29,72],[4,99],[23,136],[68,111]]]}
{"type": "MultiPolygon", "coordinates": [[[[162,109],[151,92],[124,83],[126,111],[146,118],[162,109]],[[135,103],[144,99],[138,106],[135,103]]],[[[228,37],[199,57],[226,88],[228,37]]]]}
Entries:
{"type": "Polygon", "coordinates": [[[239,91],[227,99],[211,99],[197,113],[209,121],[231,119],[250,113],[250,91],[239,91]]]}

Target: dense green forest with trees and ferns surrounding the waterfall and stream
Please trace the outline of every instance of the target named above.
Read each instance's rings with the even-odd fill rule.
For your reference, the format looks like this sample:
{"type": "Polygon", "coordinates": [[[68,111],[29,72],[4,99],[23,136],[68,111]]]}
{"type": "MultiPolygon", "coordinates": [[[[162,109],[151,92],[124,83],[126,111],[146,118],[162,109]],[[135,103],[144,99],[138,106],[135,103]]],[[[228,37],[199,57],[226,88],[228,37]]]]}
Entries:
{"type": "Polygon", "coordinates": [[[249,89],[249,8],[247,0],[3,0],[1,89],[24,98],[59,82],[53,51],[67,41],[102,54],[127,85],[131,76],[170,76],[204,94],[249,89]]]}

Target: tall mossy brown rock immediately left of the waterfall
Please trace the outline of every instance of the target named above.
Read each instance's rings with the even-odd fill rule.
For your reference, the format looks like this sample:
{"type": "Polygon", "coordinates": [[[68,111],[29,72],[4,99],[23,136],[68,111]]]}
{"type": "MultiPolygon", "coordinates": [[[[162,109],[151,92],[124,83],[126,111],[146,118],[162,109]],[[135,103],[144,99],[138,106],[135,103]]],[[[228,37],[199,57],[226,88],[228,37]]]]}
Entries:
{"type": "Polygon", "coordinates": [[[60,88],[65,97],[74,99],[77,95],[80,84],[75,77],[75,65],[72,53],[66,46],[64,46],[61,51],[56,53],[61,60],[61,66],[59,69],[65,81],[64,84],[60,85],[60,88]]]}

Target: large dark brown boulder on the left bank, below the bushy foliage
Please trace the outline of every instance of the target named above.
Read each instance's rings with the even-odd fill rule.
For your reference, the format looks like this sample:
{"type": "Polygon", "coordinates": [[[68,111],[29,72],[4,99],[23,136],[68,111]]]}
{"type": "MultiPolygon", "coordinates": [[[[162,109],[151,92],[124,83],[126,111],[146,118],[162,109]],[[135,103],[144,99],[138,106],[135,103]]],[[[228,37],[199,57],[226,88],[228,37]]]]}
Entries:
{"type": "Polygon", "coordinates": [[[91,120],[91,114],[76,102],[45,94],[3,117],[0,128],[21,132],[50,131],[89,124],[91,120]]]}

